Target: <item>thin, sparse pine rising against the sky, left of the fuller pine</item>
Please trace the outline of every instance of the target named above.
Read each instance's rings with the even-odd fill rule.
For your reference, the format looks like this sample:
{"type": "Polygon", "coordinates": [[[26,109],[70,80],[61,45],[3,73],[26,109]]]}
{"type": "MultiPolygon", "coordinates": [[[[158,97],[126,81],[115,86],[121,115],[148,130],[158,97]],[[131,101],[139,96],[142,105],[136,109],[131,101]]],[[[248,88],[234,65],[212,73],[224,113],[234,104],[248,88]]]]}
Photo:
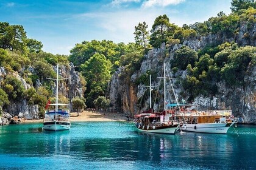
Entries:
{"type": "Polygon", "coordinates": [[[144,50],[146,50],[146,47],[148,46],[148,39],[149,39],[149,31],[148,25],[146,22],[138,24],[138,26],[135,26],[135,32],[133,33],[135,35],[135,42],[144,47],[144,50]]]}

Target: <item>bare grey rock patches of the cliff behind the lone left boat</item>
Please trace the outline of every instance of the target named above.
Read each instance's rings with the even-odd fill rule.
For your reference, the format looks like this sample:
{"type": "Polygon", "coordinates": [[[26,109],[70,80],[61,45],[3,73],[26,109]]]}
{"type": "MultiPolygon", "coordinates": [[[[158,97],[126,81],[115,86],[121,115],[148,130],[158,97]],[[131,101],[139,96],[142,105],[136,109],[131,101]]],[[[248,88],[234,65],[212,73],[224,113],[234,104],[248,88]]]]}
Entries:
{"type": "MultiPolygon", "coordinates": [[[[54,66],[54,70],[56,71],[57,67],[54,66]]],[[[33,71],[31,68],[30,70],[33,71]]],[[[3,80],[3,78],[6,76],[6,72],[4,67],[0,68],[0,81],[3,80]]],[[[66,98],[71,101],[73,97],[79,96],[82,97],[83,91],[82,91],[82,84],[80,83],[80,77],[79,73],[74,70],[73,63],[69,63],[68,66],[60,66],[59,67],[59,75],[63,78],[68,78],[65,81],[61,81],[59,84],[59,94],[64,95],[66,98]]],[[[18,73],[15,73],[15,77],[18,78],[18,80],[21,81],[21,83],[24,86],[24,89],[29,89],[30,85],[26,83],[26,81],[20,77],[18,73]]],[[[38,88],[42,83],[40,80],[37,80],[37,83],[35,84],[35,88],[38,88]]],[[[0,84],[1,85],[1,84],[0,84]]],[[[55,95],[55,87],[52,89],[54,91],[55,95]]],[[[73,111],[73,108],[71,106],[71,111],[73,111]]],[[[38,106],[37,105],[30,105],[28,101],[24,98],[23,100],[20,100],[19,102],[10,102],[8,106],[4,109],[5,112],[8,114],[3,114],[2,117],[0,117],[0,124],[9,124],[8,120],[10,121],[9,117],[6,117],[5,115],[10,115],[11,117],[18,116],[26,119],[39,119],[38,115],[38,106]]]]}

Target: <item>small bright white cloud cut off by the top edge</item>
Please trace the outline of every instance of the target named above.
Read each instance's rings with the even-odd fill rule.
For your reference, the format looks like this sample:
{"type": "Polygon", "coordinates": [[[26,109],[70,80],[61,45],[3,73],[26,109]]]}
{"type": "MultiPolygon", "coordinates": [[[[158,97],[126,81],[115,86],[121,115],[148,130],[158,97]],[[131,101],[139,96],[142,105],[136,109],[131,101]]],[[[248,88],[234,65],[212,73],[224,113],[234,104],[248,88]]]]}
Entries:
{"type": "Polygon", "coordinates": [[[141,5],[143,8],[149,8],[153,6],[166,7],[168,5],[177,5],[185,0],[148,0],[144,1],[141,5]]]}

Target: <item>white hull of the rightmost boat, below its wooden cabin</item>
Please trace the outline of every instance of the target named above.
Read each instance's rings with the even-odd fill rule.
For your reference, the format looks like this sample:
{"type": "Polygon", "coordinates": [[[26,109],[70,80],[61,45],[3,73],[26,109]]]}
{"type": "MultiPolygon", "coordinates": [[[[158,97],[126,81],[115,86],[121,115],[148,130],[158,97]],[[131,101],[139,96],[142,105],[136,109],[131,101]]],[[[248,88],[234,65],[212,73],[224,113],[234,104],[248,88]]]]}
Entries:
{"type": "Polygon", "coordinates": [[[180,126],[182,131],[201,132],[209,134],[227,134],[227,131],[234,123],[199,123],[183,124],[180,126]]]}

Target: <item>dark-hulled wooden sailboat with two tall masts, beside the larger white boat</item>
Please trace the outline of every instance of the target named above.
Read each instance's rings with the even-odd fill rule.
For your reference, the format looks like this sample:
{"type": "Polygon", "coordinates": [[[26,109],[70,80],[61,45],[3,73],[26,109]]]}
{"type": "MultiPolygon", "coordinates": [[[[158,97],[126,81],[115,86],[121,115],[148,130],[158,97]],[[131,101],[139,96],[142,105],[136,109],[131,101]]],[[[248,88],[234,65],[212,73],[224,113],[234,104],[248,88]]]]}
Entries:
{"type": "Polygon", "coordinates": [[[166,114],[166,74],[165,74],[165,63],[164,63],[164,110],[163,112],[152,112],[151,107],[151,75],[149,83],[150,92],[150,109],[142,112],[141,114],[135,115],[135,126],[141,132],[150,132],[156,134],[175,134],[179,128],[179,123],[173,120],[172,117],[166,114]]]}

